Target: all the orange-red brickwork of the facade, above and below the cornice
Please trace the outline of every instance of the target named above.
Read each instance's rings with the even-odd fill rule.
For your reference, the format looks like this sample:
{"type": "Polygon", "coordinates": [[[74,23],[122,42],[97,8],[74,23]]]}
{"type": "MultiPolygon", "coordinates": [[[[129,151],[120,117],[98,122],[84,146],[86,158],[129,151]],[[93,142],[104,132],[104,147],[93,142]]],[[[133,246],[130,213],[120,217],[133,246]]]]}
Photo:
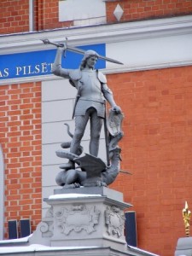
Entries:
{"type": "MultiPolygon", "coordinates": [[[[0,2],[0,33],[29,31],[28,0],[0,2]]],[[[35,1],[34,29],[73,26],[58,21],[58,0],[35,1]]],[[[122,0],[120,21],[189,15],[191,0],[122,0]]],[[[122,170],[111,188],[124,193],[137,212],[138,247],[172,256],[184,236],[184,201],[192,206],[192,67],[108,75],[116,102],[125,113],[122,170]]],[[[9,219],[41,220],[41,83],[0,87],[0,143],[5,159],[5,238],[9,219]]]]}

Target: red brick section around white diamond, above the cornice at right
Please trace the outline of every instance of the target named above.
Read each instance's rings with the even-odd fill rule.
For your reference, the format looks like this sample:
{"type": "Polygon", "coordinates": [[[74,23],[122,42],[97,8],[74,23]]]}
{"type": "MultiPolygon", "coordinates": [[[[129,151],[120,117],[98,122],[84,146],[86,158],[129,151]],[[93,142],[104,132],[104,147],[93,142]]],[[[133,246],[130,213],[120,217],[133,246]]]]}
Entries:
{"type": "Polygon", "coordinates": [[[121,0],[107,2],[107,20],[116,22],[113,11],[117,4],[124,10],[120,21],[149,20],[176,15],[191,15],[191,0],[121,0]]]}

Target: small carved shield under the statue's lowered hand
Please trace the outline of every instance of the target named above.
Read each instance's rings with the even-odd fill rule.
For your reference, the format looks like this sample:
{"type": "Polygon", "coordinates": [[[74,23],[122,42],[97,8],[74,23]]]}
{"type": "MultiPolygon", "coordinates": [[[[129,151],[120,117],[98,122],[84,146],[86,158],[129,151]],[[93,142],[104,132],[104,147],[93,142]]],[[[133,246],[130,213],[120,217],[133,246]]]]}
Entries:
{"type": "Polygon", "coordinates": [[[122,113],[116,113],[112,109],[109,110],[107,118],[108,132],[115,137],[121,130],[122,121],[124,115],[122,113]]]}

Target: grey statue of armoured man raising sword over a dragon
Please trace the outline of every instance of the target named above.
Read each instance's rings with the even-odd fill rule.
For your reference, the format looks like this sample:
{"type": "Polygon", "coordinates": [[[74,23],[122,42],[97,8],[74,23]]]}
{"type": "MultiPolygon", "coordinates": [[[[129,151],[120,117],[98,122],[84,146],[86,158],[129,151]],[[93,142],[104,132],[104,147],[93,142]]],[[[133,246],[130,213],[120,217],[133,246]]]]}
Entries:
{"type": "Polygon", "coordinates": [[[73,109],[75,117],[75,131],[72,135],[70,145],[62,143],[62,149],[56,151],[57,156],[67,158],[69,162],[61,166],[63,169],[56,177],[56,183],[63,188],[77,188],[80,186],[107,186],[112,183],[119,173],[119,140],[123,137],[121,131],[121,122],[123,114],[119,106],[114,102],[113,93],[108,88],[107,79],[103,73],[95,69],[96,61],[104,59],[114,63],[122,64],[119,61],[109,59],[98,55],[94,50],[81,50],[69,47],[67,43],[51,43],[48,39],[43,40],[44,44],[54,44],[57,46],[55,62],[52,72],[56,76],[69,79],[77,90],[76,101],[73,109]],[[83,53],[79,69],[66,69],[61,67],[61,57],[65,55],[66,50],[83,53]],[[109,116],[106,116],[106,101],[111,109],[109,116]],[[90,154],[83,157],[83,149],[80,145],[84,136],[84,130],[90,120],[90,154]],[[107,160],[106,165],[97,157],[99,149],[99,139],[104,121],[104,130],[106,137],[107,160]],[[63,148],[70,148],[67,151],[63,148]],[[75,168],[75,165],[78,167],[75,168]],[[81,170],[79,170],[81,168],[81,170]]]}

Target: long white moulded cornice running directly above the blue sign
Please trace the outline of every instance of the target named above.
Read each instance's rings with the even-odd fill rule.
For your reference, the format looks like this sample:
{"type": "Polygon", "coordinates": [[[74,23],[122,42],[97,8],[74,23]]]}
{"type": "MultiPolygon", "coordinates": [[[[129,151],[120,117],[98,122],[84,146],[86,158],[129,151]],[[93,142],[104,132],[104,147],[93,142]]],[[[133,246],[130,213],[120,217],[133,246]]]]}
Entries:
{"type": "Polygon", "coordinates": [[[40,39],[49,38],[56,42],[68,38],[73,45],[110,44],[143,38],[157,38],[192,33],[192,15],[125,22],[111,25],[69,27],[44,32],[26,32],[0,36],[0,55],[51,49],[40,39]]]}

